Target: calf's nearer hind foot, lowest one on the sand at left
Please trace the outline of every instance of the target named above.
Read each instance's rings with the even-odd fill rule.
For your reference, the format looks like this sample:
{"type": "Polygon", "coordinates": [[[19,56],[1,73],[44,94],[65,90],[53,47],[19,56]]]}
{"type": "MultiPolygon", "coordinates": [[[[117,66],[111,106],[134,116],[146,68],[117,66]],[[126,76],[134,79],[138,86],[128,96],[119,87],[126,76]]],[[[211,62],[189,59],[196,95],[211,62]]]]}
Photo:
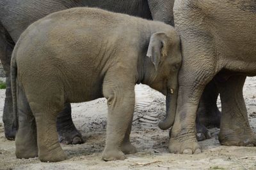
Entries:
{"type": "Polygon", "coordinates": [[[40,149],[39,159],[42,162],[60,162],[67,159],[66,153],[62,150],[60,146],[54,148],[53,150],[40,149]]]}

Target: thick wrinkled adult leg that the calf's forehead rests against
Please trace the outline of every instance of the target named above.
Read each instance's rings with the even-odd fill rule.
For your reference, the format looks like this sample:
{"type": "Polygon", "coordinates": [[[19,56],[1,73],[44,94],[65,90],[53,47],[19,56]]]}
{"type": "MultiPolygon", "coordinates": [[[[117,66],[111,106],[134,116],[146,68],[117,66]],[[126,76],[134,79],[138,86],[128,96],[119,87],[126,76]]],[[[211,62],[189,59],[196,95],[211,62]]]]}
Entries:
{"type": "MultiPolygon", "coordinates": [[[[186,18],[188,19],[188,18],[186,18]]],[[[186,21],[186,20],[185,20],[186,21]]],[[[221,69],[215,59],[211,32],[181,29],[183,20],[177,20],[182,40],[182,67],[179,71],[179,95],[175,122],[172,127],[169,150],[171,153],[200,153],[196,140],[196,112],[205,86],[221,69]],[[180,23],[181,22],[181,23],[180,23]],[[191,38],[193,37],[193,38],[191,38]]]]}

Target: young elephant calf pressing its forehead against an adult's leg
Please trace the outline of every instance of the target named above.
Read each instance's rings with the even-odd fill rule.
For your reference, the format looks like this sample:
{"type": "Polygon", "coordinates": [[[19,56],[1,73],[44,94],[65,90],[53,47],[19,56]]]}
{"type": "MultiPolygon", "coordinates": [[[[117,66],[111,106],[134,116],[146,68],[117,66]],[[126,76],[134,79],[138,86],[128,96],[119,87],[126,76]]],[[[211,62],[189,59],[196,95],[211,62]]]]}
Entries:
{"type": "Polygon", "coordinates": [[[129,140],[134,85],[145,83],[166,95],[166,118],[159,125],[168,126],[175,117],[181,60],[179,35],[161,22],[95,8],[58,11],[36,21],[20,36],[12,56],[16,156],[65,160],[57,114],[65,103],[106,97],[102,159],[124,160],[124,153],[136,152],[129,140]]]}

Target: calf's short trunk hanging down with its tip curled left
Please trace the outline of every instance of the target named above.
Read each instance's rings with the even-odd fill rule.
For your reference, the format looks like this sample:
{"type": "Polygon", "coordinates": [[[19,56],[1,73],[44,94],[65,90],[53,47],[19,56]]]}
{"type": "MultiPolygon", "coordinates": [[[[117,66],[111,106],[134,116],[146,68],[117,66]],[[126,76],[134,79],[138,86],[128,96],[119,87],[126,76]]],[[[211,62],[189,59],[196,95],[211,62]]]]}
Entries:
{"type": "Polygon", "coordinates": [[[170,89],[166,95],[166,117],[164,120],[159,122],[158,126],[160,129],[166,130],[172,127],[175,114],[176,114],[176,107],[177,107],[177,92],[178,90],[170,89]]]}

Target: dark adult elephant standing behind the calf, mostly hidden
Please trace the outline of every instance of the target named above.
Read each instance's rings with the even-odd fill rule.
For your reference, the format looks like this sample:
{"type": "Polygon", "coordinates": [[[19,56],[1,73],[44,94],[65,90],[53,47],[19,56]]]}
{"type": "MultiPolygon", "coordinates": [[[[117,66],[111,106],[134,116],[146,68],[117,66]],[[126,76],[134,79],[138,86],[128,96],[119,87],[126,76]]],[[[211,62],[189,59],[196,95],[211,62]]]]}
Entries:
{"type": "MultiPolygon", "coordinates": [[[[65,10],[76,6],[97,6],[110,11],[127,13],[142,18],[160,20],[173,25],[173,0],[2,0],[0,1],[0,59],[6,72],[6,99],[4,103],[4,132],[8,139],[15,138],[17,129],[16,121],[13,123],[12,90],[10,88],[10,59],[13,47],[20,34],[29,24],[45,17],[54,11],[65,10]]],[[[211,83],[212,86],[213,84],[211,83]]],[[[215,88],[216,89],[216,88],[215,88]]],[[[208,125],[220,124],[220,111],[216,106],[218,92],[209,88],[205,90],[198,115],[200,122],[196,120],[198,140],[209,138],[209,132],[205,129],[208,125]],[[214,93],[212,92],[214,91],[214,93]],[[217,115],[217,116],[216,116],[217,115]]],[[[166,126],[166,125],[165,125],[166,126]]],[[[161,126],[162,129],[163,126],[161,126]]],[[[165,128],[166,129],[166,128],[165,128]]],[[[71,118],[70,104],[59,113],[57,118],[57,131],[59,140],[66,144],[83,142],[81,133],[77,131],[71,118]]]]}

